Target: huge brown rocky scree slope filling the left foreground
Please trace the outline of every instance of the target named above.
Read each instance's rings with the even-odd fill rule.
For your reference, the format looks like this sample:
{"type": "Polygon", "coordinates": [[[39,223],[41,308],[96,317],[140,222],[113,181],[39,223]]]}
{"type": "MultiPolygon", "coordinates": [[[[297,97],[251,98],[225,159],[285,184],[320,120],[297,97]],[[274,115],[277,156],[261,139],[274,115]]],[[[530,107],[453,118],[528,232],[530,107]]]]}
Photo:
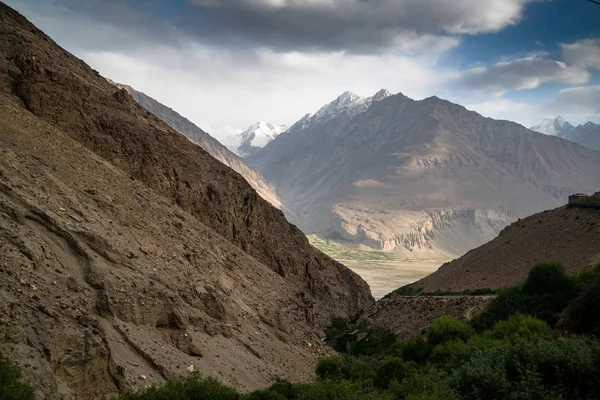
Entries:
{"type": "Polygon", "coordinates": [[[309,379],[372,302],[236,172],[0,3],[0,354],[43,399],[309,379]]]}

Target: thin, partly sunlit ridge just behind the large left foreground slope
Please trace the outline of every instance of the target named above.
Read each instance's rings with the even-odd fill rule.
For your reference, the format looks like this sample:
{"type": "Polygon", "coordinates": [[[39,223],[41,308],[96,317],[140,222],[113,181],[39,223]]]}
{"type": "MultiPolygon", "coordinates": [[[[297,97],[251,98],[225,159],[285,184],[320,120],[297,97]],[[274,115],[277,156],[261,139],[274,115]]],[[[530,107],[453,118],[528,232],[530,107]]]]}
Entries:
{"type": "Polygon", "coordinates": [[[125,89],[142,107],[163,120],[171,128],[202,147],[208,154],[242,175],[263,199],[267,200],[275,207],[281,208],[281,200],[279,200],[275,188],[267,182],[261,174],[250,168],[248,164],[219,143],[218,140],[194,125],[187,118],[154,100],[152,97],[135,90],[131,86],[119,84],[110,80],[109,82],[120,89],[125,89]]]}

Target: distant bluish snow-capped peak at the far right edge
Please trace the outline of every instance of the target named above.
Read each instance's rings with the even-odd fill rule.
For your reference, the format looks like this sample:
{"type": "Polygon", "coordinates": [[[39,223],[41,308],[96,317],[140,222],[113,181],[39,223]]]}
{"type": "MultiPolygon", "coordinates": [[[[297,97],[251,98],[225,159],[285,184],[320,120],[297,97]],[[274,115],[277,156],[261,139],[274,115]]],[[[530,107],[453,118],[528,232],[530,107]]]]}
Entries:
{"type": "Polygon", "coordinates": [[[589,121],[583,125],[573,126],[561,116],[556,119],[545,119],[542,123],[529,128],[536,132],[554,135],[582,146],[600,151],[600,125],[589,121]]]}

